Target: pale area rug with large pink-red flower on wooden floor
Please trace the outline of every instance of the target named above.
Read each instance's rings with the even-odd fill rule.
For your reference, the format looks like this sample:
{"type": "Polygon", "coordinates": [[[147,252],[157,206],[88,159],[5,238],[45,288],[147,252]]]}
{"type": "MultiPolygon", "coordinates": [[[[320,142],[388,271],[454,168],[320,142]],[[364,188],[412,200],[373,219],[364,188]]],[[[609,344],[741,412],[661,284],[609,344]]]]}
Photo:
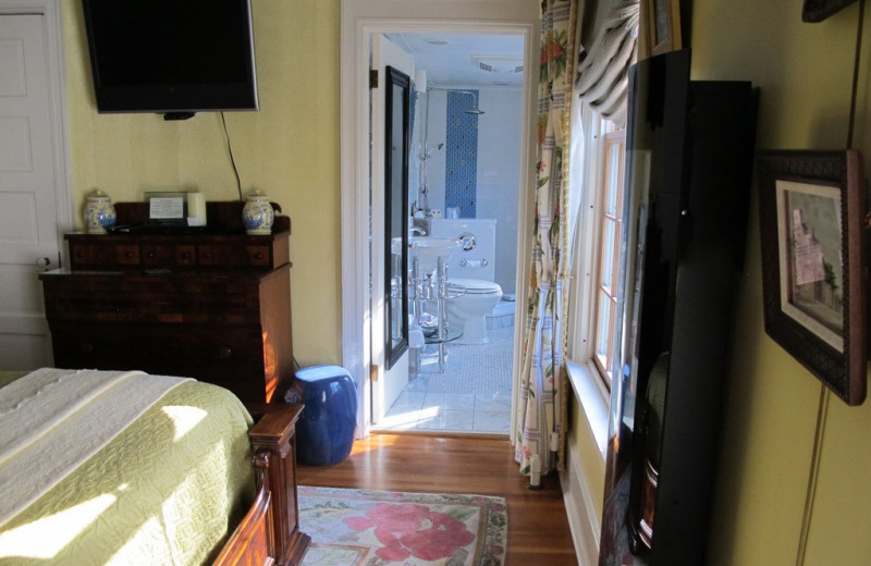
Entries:
{"type": "Polygon", "coordinates": [[[297,488],[303,566],[502,566],[505,500],[297,488]]]}

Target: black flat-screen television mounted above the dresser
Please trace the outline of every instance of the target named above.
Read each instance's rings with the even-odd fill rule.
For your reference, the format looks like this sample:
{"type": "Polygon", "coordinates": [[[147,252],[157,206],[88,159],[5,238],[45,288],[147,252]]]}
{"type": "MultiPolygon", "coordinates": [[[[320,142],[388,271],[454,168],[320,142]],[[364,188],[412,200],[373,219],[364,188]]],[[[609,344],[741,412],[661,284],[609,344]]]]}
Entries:
{"type": "Polygon", "coordinates": [[[249,0],[83,0],[99,112],[257,110],[249,0]]]}

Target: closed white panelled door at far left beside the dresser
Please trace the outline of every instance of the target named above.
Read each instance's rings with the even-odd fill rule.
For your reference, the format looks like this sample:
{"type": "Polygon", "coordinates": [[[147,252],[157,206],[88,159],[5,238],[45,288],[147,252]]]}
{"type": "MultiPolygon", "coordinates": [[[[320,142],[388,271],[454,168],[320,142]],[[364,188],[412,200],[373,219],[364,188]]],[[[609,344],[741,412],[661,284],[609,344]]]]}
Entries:
{"type": "Polygon", "coordinates": [[[0,369],[51,366],[38,273],[58,267],[46,16],[0,15],[0,369]]]}

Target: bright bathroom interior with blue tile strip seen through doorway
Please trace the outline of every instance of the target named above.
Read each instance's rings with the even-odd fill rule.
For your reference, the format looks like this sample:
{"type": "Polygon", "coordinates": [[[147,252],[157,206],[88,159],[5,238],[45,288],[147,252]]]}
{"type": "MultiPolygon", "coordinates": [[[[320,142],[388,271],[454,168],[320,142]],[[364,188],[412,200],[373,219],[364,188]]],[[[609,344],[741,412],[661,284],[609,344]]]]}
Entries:
{"type": "MultiPolygon", "coordinates": [[[[462,241],[433,271],[409,249],[409,350],[383,373],[377,430],[507,434],[515,347],[524,37],[387,33],[414,60],[414,244],[462,241]],[[443,297],[443,298],[442,298],[443,297]],[[401,389],[398,389],[401,387],[401,389]]],[[[377,207],[373,207],[377,209],[377,207]]],[[[420,248],[422,249],[422,248],[420,248]]]]}

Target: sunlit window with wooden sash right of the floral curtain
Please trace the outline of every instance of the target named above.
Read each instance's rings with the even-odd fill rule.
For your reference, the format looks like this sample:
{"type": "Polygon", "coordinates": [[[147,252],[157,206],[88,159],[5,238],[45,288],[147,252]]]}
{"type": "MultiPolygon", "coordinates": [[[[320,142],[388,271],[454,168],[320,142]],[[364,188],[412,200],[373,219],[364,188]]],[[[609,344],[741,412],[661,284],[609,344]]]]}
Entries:
{"type": "Polygon", "coordinates": [[[573,118],[579,124],[573,131],[585,135],[577,136],[577,144],[573,138],[569,158],[569,198],[577,202],[577,213],[569,220],[574,282],[568,357],[610,389],[623,332],[618,290],[626,135],[585,108],[573,118]]]}

